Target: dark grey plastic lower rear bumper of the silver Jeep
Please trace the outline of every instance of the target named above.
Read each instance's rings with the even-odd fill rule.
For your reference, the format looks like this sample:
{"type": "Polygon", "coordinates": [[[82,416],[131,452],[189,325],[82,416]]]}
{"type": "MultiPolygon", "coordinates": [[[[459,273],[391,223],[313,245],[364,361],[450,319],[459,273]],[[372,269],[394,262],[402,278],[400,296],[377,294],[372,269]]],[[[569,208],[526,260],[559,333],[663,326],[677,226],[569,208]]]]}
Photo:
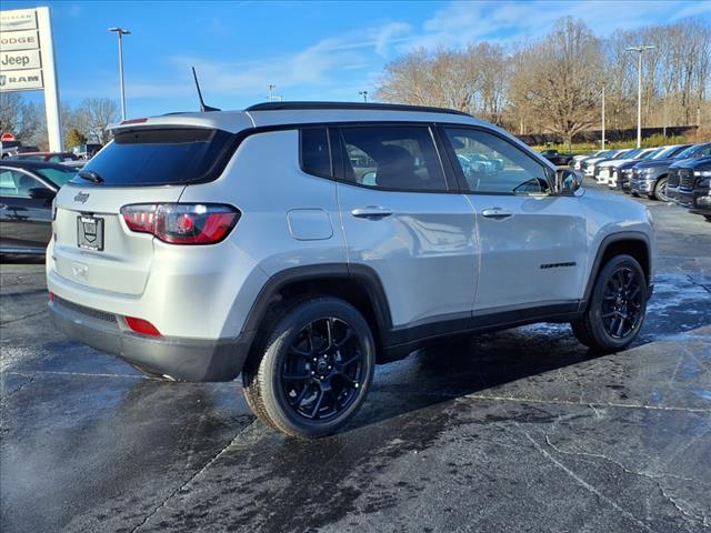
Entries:
{"type": "Polygon", "coordinates": [[[54,326],[67,336],[178,381],[231,381],[241,372],[249,351],[244,338],[140,335],[121,328],[119,319],[108,313],[92,313],[88,308],[58,300],[49,308],[54,326]]]}

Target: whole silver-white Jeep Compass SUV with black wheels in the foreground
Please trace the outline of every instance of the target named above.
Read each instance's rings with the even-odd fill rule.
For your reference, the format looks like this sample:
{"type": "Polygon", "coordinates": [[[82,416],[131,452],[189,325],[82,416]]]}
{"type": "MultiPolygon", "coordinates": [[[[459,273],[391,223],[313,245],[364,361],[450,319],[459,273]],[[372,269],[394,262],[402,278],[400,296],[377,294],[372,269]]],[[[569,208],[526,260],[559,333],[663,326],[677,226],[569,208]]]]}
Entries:
{"type": "Polygon", "coordinates": [[[151,375],[241,373],[290,435],[337,431],[434,338],[570,322],[612,352],[644,320],[645,208],[468,114],[274,102],[113,134],[56,198],[56,326],[151,375]]]}

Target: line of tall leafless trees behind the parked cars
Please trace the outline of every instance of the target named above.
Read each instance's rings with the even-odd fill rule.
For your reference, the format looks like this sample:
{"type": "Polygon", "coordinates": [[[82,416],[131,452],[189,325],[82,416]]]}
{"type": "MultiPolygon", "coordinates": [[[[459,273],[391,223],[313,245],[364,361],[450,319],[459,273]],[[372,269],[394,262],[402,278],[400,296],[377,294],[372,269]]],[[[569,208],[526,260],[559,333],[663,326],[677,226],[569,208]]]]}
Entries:
{"type": "Polygon", "coordinates": [[[644,125],[702,125],[711,115],[711,24],[673,24],[617,31],[598,39],[580,21],[560,19],[540,41],[505,49],[488,42],[465,50],[414,50],[388,63],[377,98],[459,109],[519,133],[552,132],[565,142],[600,124],[602,87],[607,124],[637,122],[637,57],[642,57],[644,125]]]}

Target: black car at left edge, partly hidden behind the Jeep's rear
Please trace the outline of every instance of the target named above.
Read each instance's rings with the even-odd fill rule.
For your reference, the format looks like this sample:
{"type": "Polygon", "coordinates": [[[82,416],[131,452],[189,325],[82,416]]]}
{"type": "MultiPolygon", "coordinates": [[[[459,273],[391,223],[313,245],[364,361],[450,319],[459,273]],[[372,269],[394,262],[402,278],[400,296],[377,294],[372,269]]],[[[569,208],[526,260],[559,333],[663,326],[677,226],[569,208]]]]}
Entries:
{"type": "Polygon", "coordinates": [[[43,254],[52,237],[52,200],[77,170],[44,161],[0,162],[0,253],[43,254]]]}

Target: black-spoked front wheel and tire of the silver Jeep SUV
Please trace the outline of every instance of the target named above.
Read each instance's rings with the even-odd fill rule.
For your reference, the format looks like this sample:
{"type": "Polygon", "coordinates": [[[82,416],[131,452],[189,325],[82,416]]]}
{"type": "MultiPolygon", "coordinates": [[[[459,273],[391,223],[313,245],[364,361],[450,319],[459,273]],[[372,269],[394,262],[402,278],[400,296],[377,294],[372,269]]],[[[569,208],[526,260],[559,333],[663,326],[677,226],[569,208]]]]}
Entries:
{"type": "Polygon", "coordinates": [[[644,323],[647,299],[640,264],[631,255],[615,255],[598,274],[585,313],[571,322],[573,334],[598,352],[624,350],[644,323]]]}

